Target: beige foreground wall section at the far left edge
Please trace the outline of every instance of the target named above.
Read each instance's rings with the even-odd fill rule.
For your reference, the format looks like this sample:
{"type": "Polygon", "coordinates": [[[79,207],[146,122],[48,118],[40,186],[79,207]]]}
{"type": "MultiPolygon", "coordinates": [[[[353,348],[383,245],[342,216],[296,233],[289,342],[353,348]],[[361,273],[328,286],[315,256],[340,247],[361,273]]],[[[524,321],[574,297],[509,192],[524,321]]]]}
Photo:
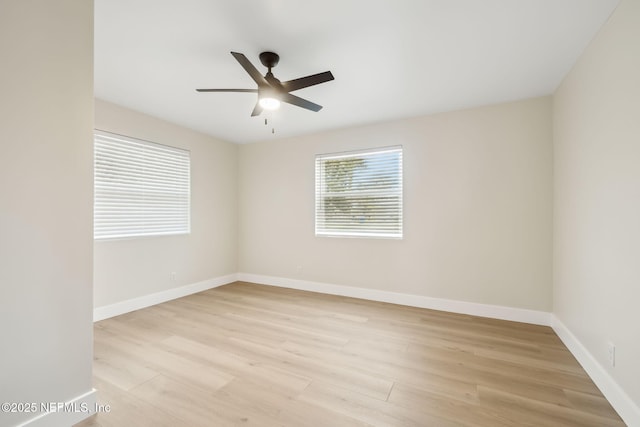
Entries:
{"type": "Polygon", "coordinates": [[[65,402],[92,390],[93,2],[3,0],[0,57],[0,402],[65,402]]]}

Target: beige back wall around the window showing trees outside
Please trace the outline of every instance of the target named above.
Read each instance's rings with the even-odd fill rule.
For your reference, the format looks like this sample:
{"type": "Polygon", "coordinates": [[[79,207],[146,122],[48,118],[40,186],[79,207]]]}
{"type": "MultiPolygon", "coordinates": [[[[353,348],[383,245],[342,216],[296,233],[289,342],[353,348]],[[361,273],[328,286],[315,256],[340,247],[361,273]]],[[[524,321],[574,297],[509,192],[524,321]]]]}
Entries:
{"type": "Polygon", "coordinates": [[[551,100],[239,148],[239,271],[550,311],[551,100]],[[404,239],[314,236],[314,156],[404,147],[404,239]]]}

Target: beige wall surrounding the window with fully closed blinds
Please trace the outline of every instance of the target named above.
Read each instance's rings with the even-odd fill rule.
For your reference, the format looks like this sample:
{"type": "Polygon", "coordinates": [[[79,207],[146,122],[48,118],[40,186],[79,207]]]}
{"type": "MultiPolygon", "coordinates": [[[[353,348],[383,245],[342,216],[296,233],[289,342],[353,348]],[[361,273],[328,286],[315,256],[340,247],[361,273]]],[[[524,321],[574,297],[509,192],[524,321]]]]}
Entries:
{"type": "Polygon", "coordinates": [[[191,234],[96,241],[95,306],[235,273],[237,146],[101,100],[95,127],[191,151],[191,234]]]}

